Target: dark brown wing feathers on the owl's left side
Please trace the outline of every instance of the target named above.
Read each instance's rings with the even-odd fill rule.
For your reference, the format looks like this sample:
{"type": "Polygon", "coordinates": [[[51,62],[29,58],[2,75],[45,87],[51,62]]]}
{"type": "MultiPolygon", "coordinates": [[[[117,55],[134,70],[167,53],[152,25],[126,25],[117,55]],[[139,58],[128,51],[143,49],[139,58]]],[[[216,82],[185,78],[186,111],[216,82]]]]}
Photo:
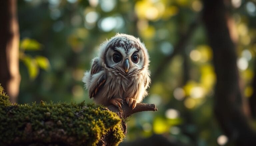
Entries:
{"type": "MultiPolygon", "coordinates": [[[[93,76],[96,73],[99,73],[102,71],[102,67],[99,65],[99,59],[96,58],[93,60],[92,68],[91,68],[91,76],[93,76]]],[[[99,75],[95,75],[93,77],[95,83],[91,86],[89,90],[89,97],[94,97],[97,92],[99,91],[100,87],[105,84],[106,82],[106,75],[105,73],[99,73],[99,75]]]]}

